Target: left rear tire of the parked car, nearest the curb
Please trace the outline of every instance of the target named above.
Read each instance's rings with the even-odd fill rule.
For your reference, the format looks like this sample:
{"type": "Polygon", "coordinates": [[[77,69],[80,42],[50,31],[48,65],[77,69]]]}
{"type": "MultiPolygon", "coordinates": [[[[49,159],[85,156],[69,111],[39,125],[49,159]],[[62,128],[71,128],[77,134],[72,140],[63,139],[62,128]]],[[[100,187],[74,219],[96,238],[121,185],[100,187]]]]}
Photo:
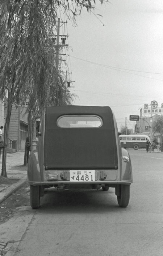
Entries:
{"type": "Polygon", "coordinates": [[[30,206],[33,209],[39,208],[40,205],[40,188],[39,186],[30,185],[30,206]]]}

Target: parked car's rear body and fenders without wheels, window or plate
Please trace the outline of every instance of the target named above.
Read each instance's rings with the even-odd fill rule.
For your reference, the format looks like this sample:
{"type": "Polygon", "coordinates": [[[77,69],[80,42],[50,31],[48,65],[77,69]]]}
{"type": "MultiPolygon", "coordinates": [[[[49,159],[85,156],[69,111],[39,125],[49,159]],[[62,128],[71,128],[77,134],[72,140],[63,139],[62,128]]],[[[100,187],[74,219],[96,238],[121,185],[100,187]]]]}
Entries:
{"type": "Polygon", "coordinates": [[[131,159],[121,148],[116,119],[109,107],[48,107],[41,118],[40,133],[37,150],[28,160],[30,185],[91,187],[133,182],[131,159]],[[58,117],[71,114],[98,115],[103,125],[88,129],[57,126],[58,117]],[[95,180],[70,182],[70,170],[95,170],[95,180]],[[53,176],[55,179],[49,180],[53,176]]]}

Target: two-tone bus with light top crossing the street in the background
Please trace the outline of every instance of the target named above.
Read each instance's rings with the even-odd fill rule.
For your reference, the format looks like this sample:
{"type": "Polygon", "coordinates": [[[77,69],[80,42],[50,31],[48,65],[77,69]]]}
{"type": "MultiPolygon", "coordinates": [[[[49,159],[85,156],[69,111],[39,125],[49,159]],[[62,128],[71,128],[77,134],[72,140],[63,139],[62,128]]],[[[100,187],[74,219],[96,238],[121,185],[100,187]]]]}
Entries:
{"type": "Polygon", "coordinates": [[[120,135],[121,146],[125,149],[134,148],[135,150],[146,148],[146,142],[150,138],[142,134],[120,135]]]}

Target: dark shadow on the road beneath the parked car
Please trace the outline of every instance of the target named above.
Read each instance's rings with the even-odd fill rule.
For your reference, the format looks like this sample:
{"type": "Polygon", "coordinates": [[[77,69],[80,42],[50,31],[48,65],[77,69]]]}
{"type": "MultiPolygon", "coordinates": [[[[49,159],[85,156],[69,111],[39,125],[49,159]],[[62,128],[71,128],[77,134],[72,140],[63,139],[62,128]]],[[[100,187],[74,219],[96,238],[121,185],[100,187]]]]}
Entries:
{"type": "Polygon", "coordinates": [[[41,198],[39,211],[46,214],[59,213],[107,213],[129,211],[127,208],[121,208],[117,203],[115,189],[109,191],[88,190],[88,191],[54,191],[47,192],[41,198]]]}

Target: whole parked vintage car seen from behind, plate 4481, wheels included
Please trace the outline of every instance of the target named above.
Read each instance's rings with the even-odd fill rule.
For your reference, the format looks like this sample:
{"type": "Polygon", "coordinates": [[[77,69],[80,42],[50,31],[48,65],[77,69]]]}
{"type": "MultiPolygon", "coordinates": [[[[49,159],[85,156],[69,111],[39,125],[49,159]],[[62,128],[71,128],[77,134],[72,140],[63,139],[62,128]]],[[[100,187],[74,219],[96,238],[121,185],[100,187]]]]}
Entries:
{"type": "MultiPolygon", "coordinates": [[[[130,155],[121,147],[109,106],[51,106],[42,115],[37,149],[28,159],[30,205],[39,208],[46,188],[115,188],[127,207],[133,182],[130,155]]],[[[108,193],[109,195],[109,193],[108,193]]]]}

